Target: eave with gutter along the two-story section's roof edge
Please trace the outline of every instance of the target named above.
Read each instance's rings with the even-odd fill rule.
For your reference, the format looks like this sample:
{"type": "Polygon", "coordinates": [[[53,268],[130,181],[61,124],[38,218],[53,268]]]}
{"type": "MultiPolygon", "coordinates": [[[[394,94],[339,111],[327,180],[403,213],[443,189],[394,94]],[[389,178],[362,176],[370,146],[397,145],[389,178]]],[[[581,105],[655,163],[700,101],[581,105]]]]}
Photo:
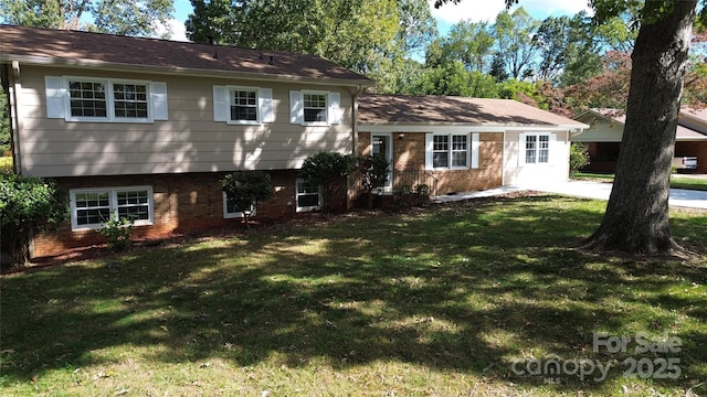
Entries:
{"type": "Polygon", "coordinates": [[[30,64],[38,66],[62,66],[75,68],[101,68],[102,71],[114,72],[140,72],[150,74],[181,76],[199,76],[199,77],[224,77],[242,78],[251,81],[262,81],[264,78],[281,82],[307,82],[319,85],[346,85],[346,86],[373,86],[376,83],[369,78],[351,79],[351,78],[331,78],[331,77],[306,77],[296,75],[283,75],[272,73],[254,73],[254,72],[234,72],[219,69],[201,69],[178,66],[155,66],[155,65],[136,65],[126,63],[103,62],[96,60],[65,60],[49,56],[27,56],[0,53],[0,63],[17,61],[20,64],[30,64]]]}

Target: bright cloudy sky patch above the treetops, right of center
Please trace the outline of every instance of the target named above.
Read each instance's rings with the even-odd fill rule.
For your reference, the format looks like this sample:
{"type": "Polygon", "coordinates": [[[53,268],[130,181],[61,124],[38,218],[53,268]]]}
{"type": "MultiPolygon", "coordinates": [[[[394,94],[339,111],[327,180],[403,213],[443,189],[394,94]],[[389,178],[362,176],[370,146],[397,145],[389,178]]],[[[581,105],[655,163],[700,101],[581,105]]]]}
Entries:
{"type": "MultiPolygon", "coordinates": [[[[496,15],[506,9],[504,0],[462,0],[457,4],[447,2],[440,9],[434,8],[434,0],[428,0],[428,3],[432,10],[432,15],[437,21],[446,23],[466,20],[472,22],[493,22],[496,20],[496,15]]],[[[592,14],[591,8],[587,3],[587,0],[520,0],[510,10],[523,7],[535,19],[545,20],[550,15],[574,15],[580,11],[587,11],[592,14]]]]}

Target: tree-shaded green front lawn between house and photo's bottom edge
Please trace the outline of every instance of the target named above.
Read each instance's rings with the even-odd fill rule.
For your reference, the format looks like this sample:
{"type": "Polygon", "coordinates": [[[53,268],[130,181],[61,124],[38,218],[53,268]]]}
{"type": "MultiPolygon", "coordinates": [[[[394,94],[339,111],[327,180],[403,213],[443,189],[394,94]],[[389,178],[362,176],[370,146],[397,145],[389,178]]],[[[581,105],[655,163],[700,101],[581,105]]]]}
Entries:
{"type": "MultiPolygon", "coordinates": [[[[707,257],[572,249],[604,205],[350,215],[4,276],[0,394],[704,395],[707,257]],[[683,344],[594,352],[593,332],[683,344]],[[553,357],[616,362],[603,382],[513,371],[553,357]],[[624,377],[626,358],[676,358],[680,375],[624,377]]],[[[680,243],[707,245],[704,213],[672,222],[680,243]]]]}

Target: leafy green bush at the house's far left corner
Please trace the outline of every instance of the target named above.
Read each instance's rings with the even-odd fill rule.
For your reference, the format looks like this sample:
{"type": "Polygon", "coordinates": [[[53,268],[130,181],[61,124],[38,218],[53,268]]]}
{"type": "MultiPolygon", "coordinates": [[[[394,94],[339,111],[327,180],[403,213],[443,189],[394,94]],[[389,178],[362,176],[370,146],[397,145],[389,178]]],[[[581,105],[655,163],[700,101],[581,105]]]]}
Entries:
{"type": "Polygon", "coordinates": [[[32,234],[50,232],[68,218],[68,194],[53,181],[0,174],[0,242],[13,265],[29,259],[32,234]]]}

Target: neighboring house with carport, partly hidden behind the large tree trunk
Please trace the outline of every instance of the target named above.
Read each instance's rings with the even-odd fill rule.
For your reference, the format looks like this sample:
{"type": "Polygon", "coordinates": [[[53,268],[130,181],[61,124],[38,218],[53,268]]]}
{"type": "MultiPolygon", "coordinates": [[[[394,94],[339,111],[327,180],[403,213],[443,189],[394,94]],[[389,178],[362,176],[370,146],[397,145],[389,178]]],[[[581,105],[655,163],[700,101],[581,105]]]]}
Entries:
{"type": "MultiPolygon", "coordinates": [[[[573,142],[587,144],[591,163],[584,171],[612,173],[619,159],[626,116],[615,109],[591,109],[577,120],[590,126],[573,142]]],[[[694,172],[707,173],[707,109],[683,107],[677,117],[675,157],[697,157],[694,172]]]]}

